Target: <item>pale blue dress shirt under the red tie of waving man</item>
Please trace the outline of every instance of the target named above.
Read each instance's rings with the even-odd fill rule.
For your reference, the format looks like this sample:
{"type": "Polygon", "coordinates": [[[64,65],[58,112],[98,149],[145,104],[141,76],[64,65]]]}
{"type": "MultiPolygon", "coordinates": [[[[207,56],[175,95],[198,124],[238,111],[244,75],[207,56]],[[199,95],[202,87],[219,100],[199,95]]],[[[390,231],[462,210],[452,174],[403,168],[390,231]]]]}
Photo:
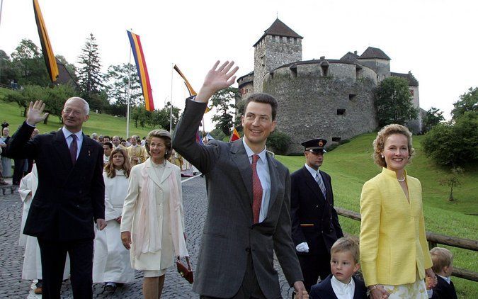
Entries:
{"type": "MultiPolygon", "coordinates": [[[[246,149],[247,157],[249,158],[249,163],[252,164],[252,156],[254,152],[251,148],[246,145],[244,138],[242,138],[242,143],[244,144],[244,148],[246,149]]],[[[271,174],[269,174],[269,164],[267,162],[266,157],[266,148],[260,153],[258,153],[259,159],[257,160],[257,175],[261,180],[262,186],[262,203],[261,203],[261,211],[259,213],[259,222],[263,222],[264,219],[267,217],[267,211],[269,208],[269,203],[271,202],[271,174]]]]}

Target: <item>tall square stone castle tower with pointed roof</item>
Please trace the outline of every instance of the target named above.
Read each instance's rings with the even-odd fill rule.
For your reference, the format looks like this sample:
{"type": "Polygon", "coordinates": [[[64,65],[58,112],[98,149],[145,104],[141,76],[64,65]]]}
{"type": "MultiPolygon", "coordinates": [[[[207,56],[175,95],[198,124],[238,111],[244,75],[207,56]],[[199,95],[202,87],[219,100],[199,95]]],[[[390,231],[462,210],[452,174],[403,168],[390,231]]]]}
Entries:
{"type": "Polygon", "coordinates": [[[262,92],[263,77],[284,64],[302,60],[302,36],[278,18],[254,44],[254,93],[262,92]]]}

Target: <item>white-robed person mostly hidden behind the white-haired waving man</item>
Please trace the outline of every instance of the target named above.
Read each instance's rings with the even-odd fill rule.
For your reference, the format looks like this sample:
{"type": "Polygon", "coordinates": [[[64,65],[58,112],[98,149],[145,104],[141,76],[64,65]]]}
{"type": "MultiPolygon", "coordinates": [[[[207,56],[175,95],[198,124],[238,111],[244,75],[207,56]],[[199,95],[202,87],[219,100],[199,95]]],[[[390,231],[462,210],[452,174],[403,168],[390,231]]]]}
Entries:
{"type": "MultiPolygon", "coordinates": [[[[42,261],[40,259],[40,247],[38,246],[38,240],[36,237],[23,234],[23,228],[25,227],[25,221],[30,210],[30,205],[35,196],[35,192],[38,187],[38,172],[36,164],[33,164],[32,171],[23,177],[18,186],[18,193],[20,194],[21,201],[23,201],[23,211],[21,216],[20,225],[20,238],[18,246],[25,247],[25,255],[23,259],[23,269],[21,278],[34,281],[38,279],[35,289],[36,294],[41,294],[42,284],[42,261]]],[[[67,261],[65,262],[63,279],[69,277],[69,256],[67,254],[67,261]]]]}

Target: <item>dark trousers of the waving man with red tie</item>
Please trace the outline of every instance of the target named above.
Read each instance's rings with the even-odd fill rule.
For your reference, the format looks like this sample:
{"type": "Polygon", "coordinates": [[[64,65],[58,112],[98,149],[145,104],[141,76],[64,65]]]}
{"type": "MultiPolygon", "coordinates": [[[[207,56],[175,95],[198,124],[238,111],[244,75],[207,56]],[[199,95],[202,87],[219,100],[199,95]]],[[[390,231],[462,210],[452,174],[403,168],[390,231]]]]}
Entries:
{"type": "MultiPolygon", "coordinates": [[[[227,282],[217,282],[227,283],[227,282]]],[[[200,299],[219,299],[218,297],[209,297],[200,295],[200,299]]],[[[266,299],[266,296],[262,293],[261,287],[257,281],[256,272],[254,271],[254,264],[252,263],[251,253],[247,254],[247,266],[246,273],[242,279],[241,286],[236,295],[230,299],[266,299]]]]}

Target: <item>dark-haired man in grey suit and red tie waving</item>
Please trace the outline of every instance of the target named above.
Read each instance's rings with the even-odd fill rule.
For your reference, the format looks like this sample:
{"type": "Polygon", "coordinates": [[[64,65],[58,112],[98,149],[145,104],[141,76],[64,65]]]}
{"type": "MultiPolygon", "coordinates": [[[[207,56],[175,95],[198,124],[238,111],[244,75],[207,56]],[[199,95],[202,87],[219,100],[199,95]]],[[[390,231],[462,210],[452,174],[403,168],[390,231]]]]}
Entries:
{"type": "Polygon", "coordinates": [[[209,98],[234,83],[234,62],[216,62],[173,134],[173,147],[207,181],[207,218],[193,290],[200,298],[281,298],[273,252],[296,298],[308,298],[290,227],[290,176],[266,153],[275,129],[277,101],[254,94],[241,121],[244,137],[226,143],[195,142],[209,98]]]}

